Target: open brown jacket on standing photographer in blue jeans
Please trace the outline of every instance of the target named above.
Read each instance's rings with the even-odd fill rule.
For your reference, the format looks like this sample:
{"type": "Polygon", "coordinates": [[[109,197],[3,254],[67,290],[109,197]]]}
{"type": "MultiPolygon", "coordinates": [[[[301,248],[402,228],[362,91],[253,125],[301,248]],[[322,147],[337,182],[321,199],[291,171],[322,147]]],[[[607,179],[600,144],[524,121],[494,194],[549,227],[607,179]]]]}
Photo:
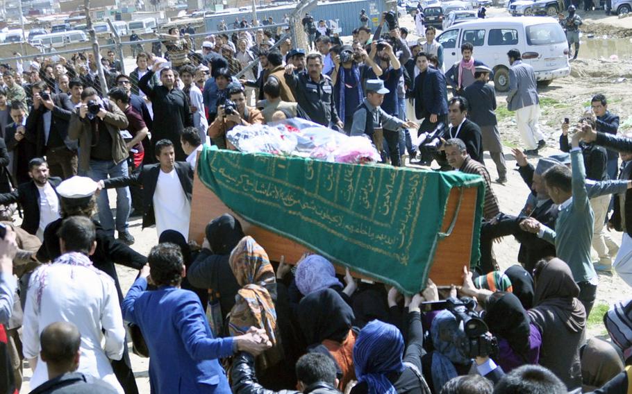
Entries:
{"type": "MultiPolygon", "coordinates": [[[[110,137],[112,137],[112,159],[114,164],[119,164],[128,157],[127,146],[121,137],[119,130],[124,130],[128,126],[127,117],[115,104],[108,100],[103,100],[108,113],[103,118],[110,137]]],[[[68,138],[79,140],[78,168],[83,171],[90,169],[90,149],[92,147],[92,128],[88,117],[81,119],[77,112],[70,116],[68,125],[68,138]]]]}

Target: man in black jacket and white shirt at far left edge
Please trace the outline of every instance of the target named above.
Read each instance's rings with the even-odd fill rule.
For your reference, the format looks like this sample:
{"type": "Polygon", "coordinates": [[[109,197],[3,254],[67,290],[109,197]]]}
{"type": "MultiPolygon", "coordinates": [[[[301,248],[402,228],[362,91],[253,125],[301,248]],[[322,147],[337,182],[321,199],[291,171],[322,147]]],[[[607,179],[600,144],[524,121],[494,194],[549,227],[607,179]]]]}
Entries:
{"type": "Polygon", "coordinates": [[[56,189],[62,179],[51,176],[48,163],[40,157],[28,162],[28,175],[31,176],[30,182],[0,194],[0,204],[19,203],[24,209],[22,228],[29,234],[37,235],[41,241],[46,226],[60,217],[56,189]]]}

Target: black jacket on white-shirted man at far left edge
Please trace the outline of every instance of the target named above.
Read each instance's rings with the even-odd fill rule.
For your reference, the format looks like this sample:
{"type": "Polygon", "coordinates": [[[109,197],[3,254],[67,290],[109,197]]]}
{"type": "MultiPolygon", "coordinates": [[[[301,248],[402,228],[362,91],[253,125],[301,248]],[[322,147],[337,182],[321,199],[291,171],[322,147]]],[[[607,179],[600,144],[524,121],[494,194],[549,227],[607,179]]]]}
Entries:
{"type": "MultiPolygon", "coordinates": [[[[62,179],[57,177],[49,178],[49,184],[57,192],[57,187],[62,179]]],[[[28,234],[35,234],[40,227],[40,192],[33,180],[24,182],[10,193],[0,194],[0,204],[19,203],[24,210],[24,220],[22,229],[28,234]]]]}

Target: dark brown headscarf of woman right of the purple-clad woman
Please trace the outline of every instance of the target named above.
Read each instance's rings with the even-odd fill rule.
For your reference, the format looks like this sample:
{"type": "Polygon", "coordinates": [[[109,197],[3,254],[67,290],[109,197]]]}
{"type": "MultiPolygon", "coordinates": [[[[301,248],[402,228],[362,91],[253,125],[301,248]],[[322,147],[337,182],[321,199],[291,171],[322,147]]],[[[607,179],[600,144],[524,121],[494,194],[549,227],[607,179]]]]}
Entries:
{"type": "MultiPolygon", "coordinates": [[[[586,310],[577,299],[579,286],[568,265],[558,258],[545,263],[535,275],[535,295],[530,314],[551,311],[573,332],[586,325],[586,310]]],[[[542,319],[543,320],[543,319],[542,319]]]]}

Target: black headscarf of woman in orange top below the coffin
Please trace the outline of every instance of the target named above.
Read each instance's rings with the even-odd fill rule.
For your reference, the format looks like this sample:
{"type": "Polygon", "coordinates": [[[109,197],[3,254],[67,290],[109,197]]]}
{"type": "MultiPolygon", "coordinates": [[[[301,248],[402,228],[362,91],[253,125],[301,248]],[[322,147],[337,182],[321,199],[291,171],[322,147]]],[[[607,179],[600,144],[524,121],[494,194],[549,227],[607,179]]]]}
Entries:
{"type": "Polygon", "coordinates": [[[335,290],[323,289],[306,295],[299,303],[299,325],[307,345],[325,339],[342,343],[354,322],[354,311],[335,290]]]}

